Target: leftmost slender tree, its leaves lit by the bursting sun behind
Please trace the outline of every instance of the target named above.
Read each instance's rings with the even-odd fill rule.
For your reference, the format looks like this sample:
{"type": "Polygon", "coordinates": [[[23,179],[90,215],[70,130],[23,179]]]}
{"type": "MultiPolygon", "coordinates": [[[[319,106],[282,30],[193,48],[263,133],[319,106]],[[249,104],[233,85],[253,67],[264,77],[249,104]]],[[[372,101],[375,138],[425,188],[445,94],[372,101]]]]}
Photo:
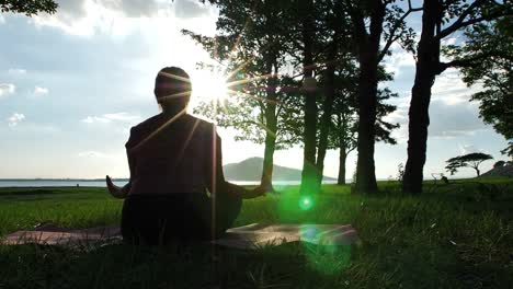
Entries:
{"type": "MultiPolygon", "coordinates": [[[[219,8],[217,35],[205,37],[184,31],[227,67],[235,95],[219,107],[219,125],[241,132],[237,139],[264,143],[261,184],[272,188],[273,155],[276,148],[296,142],[298,113],[288,102],[297,84],[281,69],[285,66],[287,25],[283,16],[289,3],[272,1],[213,1],[219,8]],[[281,74],[281,76],[280,76],[281,74]],[[236,107],[238,106],[238,107],[236,107]],[[284,115],[286,117],[281,117],[284,115]],[[287,124],[280,122],[288,122],[287,124]],[[278,129],[280,127],[280,129],[278,129]],[[282,137],[280,137],[282,136],[282,137]]],[[[203,113],[210,106],[200,107],[203,113]]]]}

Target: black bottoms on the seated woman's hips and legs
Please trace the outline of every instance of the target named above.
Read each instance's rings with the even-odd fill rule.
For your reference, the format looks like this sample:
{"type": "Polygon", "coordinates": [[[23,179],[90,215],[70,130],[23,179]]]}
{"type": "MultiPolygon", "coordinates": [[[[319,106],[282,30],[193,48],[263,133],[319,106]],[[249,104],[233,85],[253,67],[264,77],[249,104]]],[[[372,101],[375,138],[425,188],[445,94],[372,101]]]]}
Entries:
{"type": "Polygon", "coordinates": [[[231,227],[241,205],[240,198],[221,194],[215,208],[206,194],[129,195],[123,203],[123,239],[158,245],[219,238],[231,227]]]}

